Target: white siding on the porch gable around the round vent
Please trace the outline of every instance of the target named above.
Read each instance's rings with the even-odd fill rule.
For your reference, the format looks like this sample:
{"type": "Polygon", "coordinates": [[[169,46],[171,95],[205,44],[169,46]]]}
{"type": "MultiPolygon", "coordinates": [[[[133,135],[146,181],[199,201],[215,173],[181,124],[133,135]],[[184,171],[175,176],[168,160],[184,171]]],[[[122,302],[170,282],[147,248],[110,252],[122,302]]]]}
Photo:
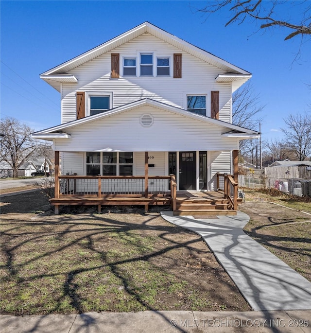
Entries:
{"type": "Polygon", "coordinates": [[[145,106],[71,127],[68,129],[70,139],[55,140],[55,149],[133,152],[239,149],[238,139],[221,136],[222,129],[221,126],[145,106]],[[140,117],[146,113],[153,117],[150,127],[140,124],[140,117]]]}

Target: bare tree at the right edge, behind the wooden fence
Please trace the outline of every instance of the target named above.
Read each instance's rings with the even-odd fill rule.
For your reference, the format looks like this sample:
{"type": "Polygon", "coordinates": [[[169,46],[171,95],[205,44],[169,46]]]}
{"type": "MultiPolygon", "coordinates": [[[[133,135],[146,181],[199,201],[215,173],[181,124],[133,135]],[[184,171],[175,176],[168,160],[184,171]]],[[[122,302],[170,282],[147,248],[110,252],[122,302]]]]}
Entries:
{"type": "Polygon", "coordinates": [[[286,143],[299,161],[311,160],[311,114],[291,114],[284,119],[286,128],[281,131],[286,136],[286,143]]]}

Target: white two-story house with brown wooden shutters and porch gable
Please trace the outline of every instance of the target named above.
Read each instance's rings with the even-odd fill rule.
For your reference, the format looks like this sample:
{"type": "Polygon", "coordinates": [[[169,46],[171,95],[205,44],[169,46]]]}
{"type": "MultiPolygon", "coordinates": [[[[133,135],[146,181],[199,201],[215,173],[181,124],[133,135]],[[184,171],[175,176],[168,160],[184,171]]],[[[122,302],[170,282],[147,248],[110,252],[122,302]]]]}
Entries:
{"type": "Polygon", "coordinates": [[[231,123],[232,93],[251,73],[149,22],[40,77],[61,94],[61,124],[33,137],[53,141],[56,176],[59,156],[62,175],[77,174],[74,189],[55,185],[56,199],[97,193],[104,204],[98,193],[121,195],[121,176],[127,187],[145,178],[144,191],[168,191],[152,177],[171,174],[177,191],[217,190],[217,173],[237,177],[239,141],[259,137],[231,123]],[[82,189],[99,175],[109,185],[102,177],[82,189]]]}

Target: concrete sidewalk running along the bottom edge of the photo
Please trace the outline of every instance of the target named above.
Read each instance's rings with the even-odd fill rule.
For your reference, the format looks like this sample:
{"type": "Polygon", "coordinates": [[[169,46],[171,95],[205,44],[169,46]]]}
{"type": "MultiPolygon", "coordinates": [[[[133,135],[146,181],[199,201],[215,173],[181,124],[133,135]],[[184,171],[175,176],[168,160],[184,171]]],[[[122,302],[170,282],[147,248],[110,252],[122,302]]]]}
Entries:
{"type": "Polygon", "coordinates": [[[311,311],[0,316],[1,333],[311,333],[311,311]]]}

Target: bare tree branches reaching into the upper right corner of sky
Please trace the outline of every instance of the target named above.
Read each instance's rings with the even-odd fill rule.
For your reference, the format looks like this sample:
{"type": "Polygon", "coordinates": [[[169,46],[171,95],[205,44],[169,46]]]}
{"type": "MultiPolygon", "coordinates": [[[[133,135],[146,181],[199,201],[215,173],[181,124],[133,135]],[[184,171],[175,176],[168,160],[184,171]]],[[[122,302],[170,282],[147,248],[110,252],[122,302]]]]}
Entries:
{"type": "MultiPolygon", "coordinates": [[[[248,18],[253,22],[260,22],[260,29],[280,27],[290,29],[290,33],[286,35],[284,40],[293,38],[294,36],[311,35],[311,5],[309,1],[262,1],[262,0],[225,0],[225,1],[208,1],[208,4],[199,12],[212,14],[222,9],[229,9],[231,17],[225,26],[237,22],[242,24],[248,18]],[[293,5],[293,11],[300,11],[299,22],[291,22],[289,18],[277,18],[277,8],[284,6],[285,3],[293,5]]],[[[283,14],[284,15],[284,14],[283,14]]]]}

